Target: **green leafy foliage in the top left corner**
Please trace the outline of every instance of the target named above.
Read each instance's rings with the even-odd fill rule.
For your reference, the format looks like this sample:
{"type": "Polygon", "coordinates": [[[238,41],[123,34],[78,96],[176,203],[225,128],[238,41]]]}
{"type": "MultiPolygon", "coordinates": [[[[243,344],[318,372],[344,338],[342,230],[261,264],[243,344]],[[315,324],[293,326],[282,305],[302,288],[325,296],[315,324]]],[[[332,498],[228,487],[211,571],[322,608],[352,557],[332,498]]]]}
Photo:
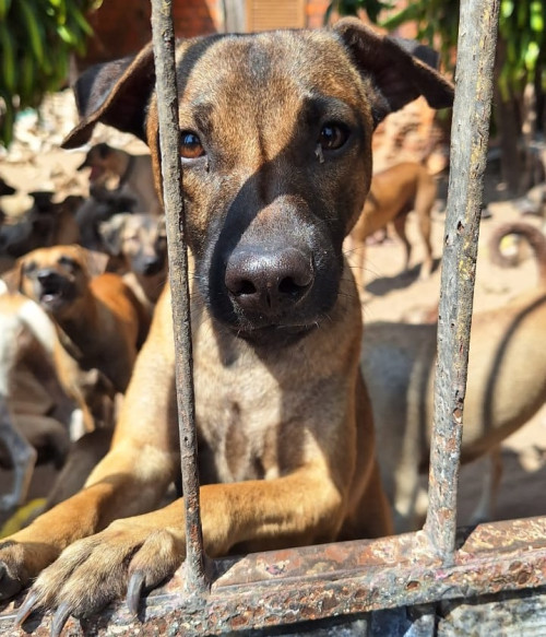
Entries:
{"type": "Polygon", "coordinates": [[[93,0],[0,0],[0,142],[9,145],[17,110],[35,107],[68,79],[72,52],[93,31],[93,0]]]}

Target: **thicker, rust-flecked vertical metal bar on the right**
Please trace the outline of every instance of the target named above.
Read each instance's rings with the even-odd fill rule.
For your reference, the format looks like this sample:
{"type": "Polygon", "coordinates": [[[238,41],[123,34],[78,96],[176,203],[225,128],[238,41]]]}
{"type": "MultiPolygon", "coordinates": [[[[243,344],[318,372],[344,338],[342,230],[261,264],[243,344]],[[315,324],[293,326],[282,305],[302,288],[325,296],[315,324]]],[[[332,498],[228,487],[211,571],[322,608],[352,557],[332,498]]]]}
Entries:
{"type": "Polygon", "coordinates": [[[425,530],[444,563],[455,550],[456,491],[499,0],[461,0],[438,319],[429,509],[425,530]]]}

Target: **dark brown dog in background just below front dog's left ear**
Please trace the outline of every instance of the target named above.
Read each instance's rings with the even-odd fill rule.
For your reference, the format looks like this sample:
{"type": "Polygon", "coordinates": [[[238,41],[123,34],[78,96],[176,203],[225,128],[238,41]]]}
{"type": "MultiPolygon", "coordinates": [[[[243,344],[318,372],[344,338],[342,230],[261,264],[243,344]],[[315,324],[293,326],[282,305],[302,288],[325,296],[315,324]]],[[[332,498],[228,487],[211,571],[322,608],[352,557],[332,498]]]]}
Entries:
{"type": "Polygon", "coordinates": [[[150,155],[131,155],[106,143],[91,148],[79,170],[91,168],[90,184],[106,187],[108,177],[117,177],[117,191],[135,200],[138,212],[163,214],[157,198],[150,155]]]}

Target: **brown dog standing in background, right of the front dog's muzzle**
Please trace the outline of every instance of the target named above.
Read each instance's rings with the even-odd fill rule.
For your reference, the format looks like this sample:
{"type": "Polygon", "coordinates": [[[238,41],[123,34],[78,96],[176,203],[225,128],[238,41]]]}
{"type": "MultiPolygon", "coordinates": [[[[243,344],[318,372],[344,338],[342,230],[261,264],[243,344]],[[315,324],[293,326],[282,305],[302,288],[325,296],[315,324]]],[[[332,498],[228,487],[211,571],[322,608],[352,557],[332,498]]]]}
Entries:
{"type": "Polygon", "coordinates": [[[407,270],[412,258],[405,225],[407,215],[415,210],[425,247],[425,260],[420,267],[420,279],[432,272],[432,246],[430,244],[430,211],[436,200],[437,186],[425,166],[413,162],[397,164],[373,175],[371,187],[355,227],[347,239],[349,263],[358,291],[364,286],[364,257],[367,237],[391,223],[404,244],[407,270]]]}

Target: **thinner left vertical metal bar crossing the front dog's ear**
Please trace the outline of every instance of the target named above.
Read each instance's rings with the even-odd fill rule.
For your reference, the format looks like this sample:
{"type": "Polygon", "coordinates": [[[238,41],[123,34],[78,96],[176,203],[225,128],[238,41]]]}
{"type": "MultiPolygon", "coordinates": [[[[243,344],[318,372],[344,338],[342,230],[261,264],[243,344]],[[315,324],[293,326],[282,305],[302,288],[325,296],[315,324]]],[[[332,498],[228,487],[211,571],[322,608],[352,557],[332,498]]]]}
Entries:
{"type": "MultiPolygon", "coordinates": [[[[152,0],[157,116],[167,225],[169,281],[175,331],[176,391],[182,488],[186,509],[186,587],[200,593],[209,589],[199,507],[195,411],[192,375],[188,250],[179,157],[178,93],[171,0],[152,0]]],[[[181,511],[180,511],[181,514],[181,511]]]]}

